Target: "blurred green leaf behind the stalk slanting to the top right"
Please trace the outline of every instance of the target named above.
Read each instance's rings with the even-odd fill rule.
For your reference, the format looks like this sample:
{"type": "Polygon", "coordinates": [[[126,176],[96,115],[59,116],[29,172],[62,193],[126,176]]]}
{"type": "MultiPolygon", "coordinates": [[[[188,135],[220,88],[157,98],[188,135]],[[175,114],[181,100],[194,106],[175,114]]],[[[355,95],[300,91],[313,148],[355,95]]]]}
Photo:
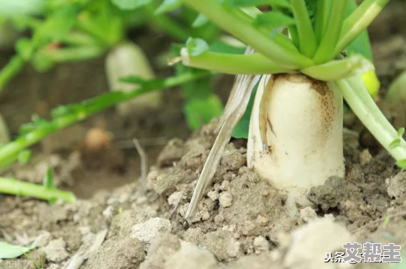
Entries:
{"type": "MultiPolygon", "coordinates": [[[[354,10],[356,10],[358,7],[357,3],[355,0],[349,0],[347,3],[347,10],[345,17],[347,18],[350,16],[354,10]]],[[[361,54],[364,56],[366,59],[368,59],[371,63],[373,62],[373,53],[372,53],[372,47],[370,45],[370,40],[368,36],[368,31],[365,30],[363,31],[360,36],[355,38],[355,40],[347,46],[347,55],[355,55],[355,54],[361,54]]]]}

